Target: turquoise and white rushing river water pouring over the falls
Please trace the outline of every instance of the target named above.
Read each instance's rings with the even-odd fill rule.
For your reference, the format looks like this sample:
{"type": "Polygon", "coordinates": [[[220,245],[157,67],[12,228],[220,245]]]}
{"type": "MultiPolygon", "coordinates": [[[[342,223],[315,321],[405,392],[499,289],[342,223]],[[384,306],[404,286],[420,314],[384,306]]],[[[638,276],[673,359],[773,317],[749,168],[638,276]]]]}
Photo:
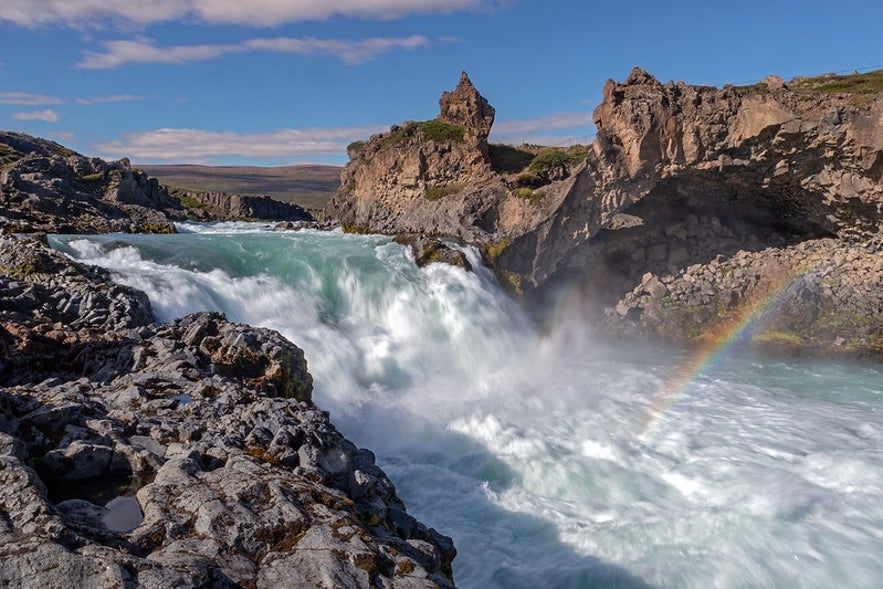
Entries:
{"type": "Polygon", "coordinates": [[[52,243],[158,319],[219,310],[304,348],[316,403],[454,537],[459,586],[883,587],[878,369],[729,358],[641,436],[686,353],[541,336],[483,269],[384,237],[181,229],[52,243]]]}

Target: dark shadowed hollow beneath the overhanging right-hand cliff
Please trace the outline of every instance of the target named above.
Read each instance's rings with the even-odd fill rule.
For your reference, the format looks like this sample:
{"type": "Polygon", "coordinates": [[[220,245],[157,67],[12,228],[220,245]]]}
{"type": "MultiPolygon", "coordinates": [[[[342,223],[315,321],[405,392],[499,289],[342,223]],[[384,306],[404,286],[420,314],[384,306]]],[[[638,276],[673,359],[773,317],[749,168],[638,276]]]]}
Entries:
{"type": "Polygon", "coordinates": [[[568,267],[550,284],[578,285],[601,312],[648,272],[677,275],[694,264],[727,259],[739,251],[834,237],[831,224],[824,218],[815,222],[805,202],[806,197],[753,189],[716,173],[668,178],[612,215],[571,254],[568,267]]]}

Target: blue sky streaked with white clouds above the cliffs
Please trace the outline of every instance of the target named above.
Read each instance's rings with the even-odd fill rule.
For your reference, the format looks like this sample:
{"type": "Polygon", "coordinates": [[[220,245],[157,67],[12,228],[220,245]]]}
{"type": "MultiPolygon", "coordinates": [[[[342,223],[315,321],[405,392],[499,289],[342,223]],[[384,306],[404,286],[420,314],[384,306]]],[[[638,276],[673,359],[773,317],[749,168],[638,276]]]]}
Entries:
{"type": "Polygon", "coordinates": [[[0,128],[136,163],[346,161],[466,70],[491,140],[594,135],[608,78],[883,67],[883,2],[0,0],[0,128]]]}

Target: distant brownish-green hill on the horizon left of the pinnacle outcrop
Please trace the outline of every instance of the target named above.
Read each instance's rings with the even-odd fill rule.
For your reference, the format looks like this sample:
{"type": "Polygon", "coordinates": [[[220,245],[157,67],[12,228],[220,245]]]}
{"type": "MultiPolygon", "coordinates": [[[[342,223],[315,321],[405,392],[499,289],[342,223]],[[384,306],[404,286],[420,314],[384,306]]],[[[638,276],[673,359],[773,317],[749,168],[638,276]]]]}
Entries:
{"type": "Polygon", "coordinates": [[[187,190],[260,194],[321,209],[340,186],[337,166],[138,166],[163,184],[187,190]]]}

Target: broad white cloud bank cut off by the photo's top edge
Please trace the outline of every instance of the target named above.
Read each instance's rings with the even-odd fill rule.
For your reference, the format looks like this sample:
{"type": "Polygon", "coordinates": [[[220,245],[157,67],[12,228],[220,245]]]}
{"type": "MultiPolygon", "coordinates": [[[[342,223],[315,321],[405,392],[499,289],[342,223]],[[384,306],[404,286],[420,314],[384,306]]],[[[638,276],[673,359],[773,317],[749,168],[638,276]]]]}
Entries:
{"type": "Polygon", "coordinates": [[[332,16],[394,19],[494,6],[493,0],[3,0],[0,21],[25,27],[63,23],[146,26],[170,20],[273,27],[332,16]]]}

